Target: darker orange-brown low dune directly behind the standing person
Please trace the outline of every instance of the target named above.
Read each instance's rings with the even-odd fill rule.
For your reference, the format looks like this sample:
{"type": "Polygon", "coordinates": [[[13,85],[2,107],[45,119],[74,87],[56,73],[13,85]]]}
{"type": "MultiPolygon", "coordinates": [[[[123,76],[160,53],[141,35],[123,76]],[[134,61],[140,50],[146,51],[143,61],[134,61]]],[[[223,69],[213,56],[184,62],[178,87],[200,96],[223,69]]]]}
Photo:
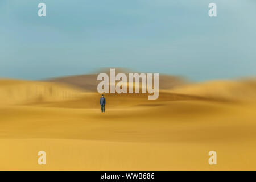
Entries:
{"type": "MultiPolygon", "coordinates": [[[[84,108],[95,109],[99,107],[101,94],[90,92],[81,94],[74,100],[63,100],[58,102],[35,101],[24,105],[37,105],[46,107],[84,108]]],[[[183,94],[173,94],[160,90],[158,100],[148,100],[147,94],[105,94],[108,100],[106,104],[110,109],[133,107],[133,106],[160,106],[167,101],[182,100],[207,100],[203,97],[186,96],[183,94]]]]}

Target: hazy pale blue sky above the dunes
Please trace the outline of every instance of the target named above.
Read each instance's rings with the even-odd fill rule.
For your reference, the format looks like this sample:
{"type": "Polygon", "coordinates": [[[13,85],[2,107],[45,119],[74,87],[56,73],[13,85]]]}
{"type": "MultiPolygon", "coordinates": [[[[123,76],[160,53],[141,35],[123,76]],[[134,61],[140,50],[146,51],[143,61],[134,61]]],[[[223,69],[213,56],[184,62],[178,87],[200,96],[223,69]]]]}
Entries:
{"type": "Polygon", "coordinates": [[[256,76],[254,0],[1,0],[0,77],[100,68],[193,81],[256,76]],[[46,17],[38,4],[46,3],[46,17]],[[217,17],[208,15],[216,3],[217,17]]]}

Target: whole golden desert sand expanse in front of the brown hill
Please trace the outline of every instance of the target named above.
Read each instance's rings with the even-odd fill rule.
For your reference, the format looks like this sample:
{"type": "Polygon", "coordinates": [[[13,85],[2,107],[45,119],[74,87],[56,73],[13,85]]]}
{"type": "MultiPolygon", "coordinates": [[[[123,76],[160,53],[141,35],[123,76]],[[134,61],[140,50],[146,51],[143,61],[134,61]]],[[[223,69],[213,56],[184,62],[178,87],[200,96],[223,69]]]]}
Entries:
{"type": "Polygon", "coordinates": [[[179,84],[158,100],[106,94],[101,113],[92,86],[0,80],[0,169],[255,170],[255,83],[179,84]]]}

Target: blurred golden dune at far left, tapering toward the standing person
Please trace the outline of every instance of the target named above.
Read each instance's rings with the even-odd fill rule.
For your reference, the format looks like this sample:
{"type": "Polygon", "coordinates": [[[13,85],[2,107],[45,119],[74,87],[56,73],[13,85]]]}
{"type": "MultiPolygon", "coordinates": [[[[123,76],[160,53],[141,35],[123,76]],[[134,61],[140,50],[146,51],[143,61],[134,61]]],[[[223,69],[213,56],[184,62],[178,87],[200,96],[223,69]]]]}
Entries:
{"type": "Polygon", "coordinates": [[[49,82],[0,80],[0,105],[70,100],[81,93],[79,89],[49,82]]]}

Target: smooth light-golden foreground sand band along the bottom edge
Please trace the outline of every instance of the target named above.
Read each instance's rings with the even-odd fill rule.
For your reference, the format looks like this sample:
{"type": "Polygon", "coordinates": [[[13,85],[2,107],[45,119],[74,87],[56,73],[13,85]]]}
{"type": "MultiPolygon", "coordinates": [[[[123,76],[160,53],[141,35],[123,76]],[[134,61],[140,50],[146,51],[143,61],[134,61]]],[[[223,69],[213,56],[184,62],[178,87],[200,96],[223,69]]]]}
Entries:
{"type": "Polygon", "coordinates": [[[0,139],[1,169],[6,170],[251,170],[255,169],[255,145],[236,143],[137,143],[72,139],[0,139]],[[250,147],[252,150],[243,148],[250,147]],[[19,148],[17,152],[16,149],[19,148]],[[29,150],[28,150],[29,148],[29,150]],[[210,166],[207,152],[221,151],[210,166]],[[38,165],[40,150],[46,165],[38,165]],[[236,152],[234,152],[236,151],[236,152]],[[240,159],[240,160],[237,160],[240,159]],[[242,165],[241,165],[242,160],[242,165]],[[14,165],[16,164],[16,165],[14,165]]]}

